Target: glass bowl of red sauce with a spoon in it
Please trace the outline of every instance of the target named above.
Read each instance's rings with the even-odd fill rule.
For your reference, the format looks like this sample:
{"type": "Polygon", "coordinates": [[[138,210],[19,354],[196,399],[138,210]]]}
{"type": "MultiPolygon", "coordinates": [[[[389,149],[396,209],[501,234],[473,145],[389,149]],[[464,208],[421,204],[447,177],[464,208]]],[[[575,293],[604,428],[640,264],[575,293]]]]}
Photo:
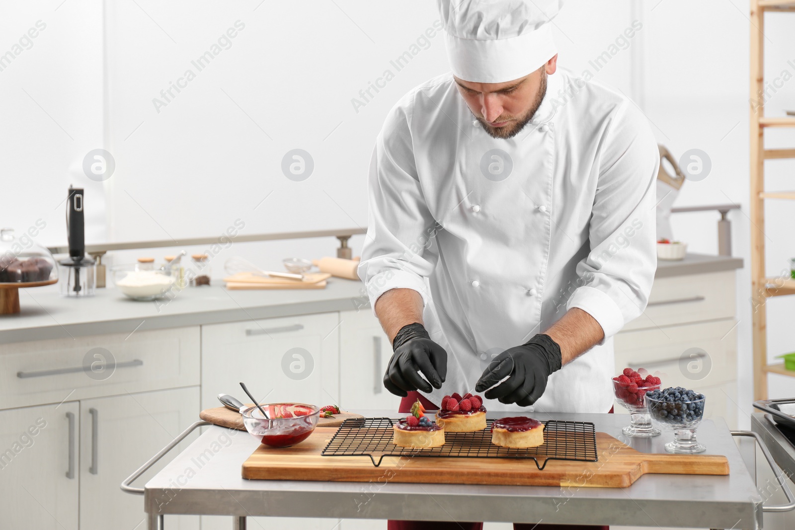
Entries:
{"type": "Polygon", "coordinates": [[[246,431],[269,447],[290,447],[303,442],[320,418],[320,407],[305,403],[271,403],[260,407],[268,418],[255,405],[242,408],[240,413],[246,431]]]}

